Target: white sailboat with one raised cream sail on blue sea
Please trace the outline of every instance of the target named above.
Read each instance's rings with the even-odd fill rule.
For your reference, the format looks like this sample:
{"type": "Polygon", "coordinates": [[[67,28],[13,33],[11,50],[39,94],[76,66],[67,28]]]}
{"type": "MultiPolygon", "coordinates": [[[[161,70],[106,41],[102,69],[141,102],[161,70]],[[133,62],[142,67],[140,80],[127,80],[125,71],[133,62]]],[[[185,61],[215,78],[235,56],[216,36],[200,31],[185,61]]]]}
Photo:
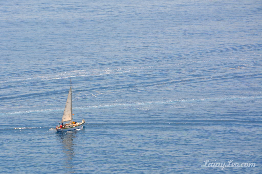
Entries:
{"type": "Polygon", "coordinates": [[[68,131],[68,130],[75,130],[81,128],[85,124],[85,120],[83,119],[81,122],[73,122],[73,109],[72,109],[72,82],[70,80],[70,89],[68,92],[67,100],[65,103],[65,109],[62,117],[63,122],[69,122],[63,125],[57,125],[56,131],[68,131]]]}

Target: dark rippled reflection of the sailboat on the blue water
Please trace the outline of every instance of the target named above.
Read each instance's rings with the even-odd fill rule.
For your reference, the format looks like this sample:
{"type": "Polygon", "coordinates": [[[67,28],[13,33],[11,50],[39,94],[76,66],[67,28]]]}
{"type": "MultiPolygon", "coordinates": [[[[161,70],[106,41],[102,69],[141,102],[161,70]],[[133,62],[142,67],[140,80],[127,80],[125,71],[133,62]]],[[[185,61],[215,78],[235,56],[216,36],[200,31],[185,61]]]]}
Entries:
{"type": "Polygon", "coordinates": [[[58,144],[61,144],[63,153],[63,161],[65,162],[66,173],[74,173],[74,138],[77,135],[78,131],[66,131],[58,132],[56,134],[57,141],[60,141],[58,144]]]}

